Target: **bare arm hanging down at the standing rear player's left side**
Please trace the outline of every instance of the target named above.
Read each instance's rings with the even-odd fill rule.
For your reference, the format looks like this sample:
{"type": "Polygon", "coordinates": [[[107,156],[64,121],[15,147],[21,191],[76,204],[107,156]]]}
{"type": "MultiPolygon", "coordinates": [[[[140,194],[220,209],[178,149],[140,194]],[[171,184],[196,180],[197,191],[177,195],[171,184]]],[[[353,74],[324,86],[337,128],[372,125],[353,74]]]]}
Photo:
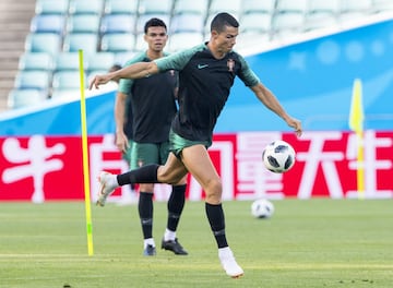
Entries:
{"type": "MultiPolygon", "coordinates": [[[[115,100],[116,146],[122,153],[127,153],[130,146],[124,133],[126,103],[127,94],[118,92],[115,100]]],[[[132,121],[132,119],[128,119],[128,121],[132,121]]]]}

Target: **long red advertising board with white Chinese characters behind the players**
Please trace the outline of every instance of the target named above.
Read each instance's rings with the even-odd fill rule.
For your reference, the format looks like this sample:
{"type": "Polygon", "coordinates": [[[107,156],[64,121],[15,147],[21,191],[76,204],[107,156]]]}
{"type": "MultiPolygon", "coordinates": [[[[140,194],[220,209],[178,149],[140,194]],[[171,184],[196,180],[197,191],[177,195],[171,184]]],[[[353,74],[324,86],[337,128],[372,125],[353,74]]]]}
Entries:
{"type": "MultiPolygon", "coordinates": [[[[224,200],[257,197],[358,197],[357,137],[341,131],[293,133],[240,132],[216,134],[210,155],[223,179],[224,200]],[[282,139],[296,151],[296,164],[286,173],[267,171],[262,163],[263,147],[282,139]]],[[[393,132],[364,134],[366,199],[393,197],[393,132]]],[[[92,200],[97,193],[100,170],[128,170],[111,134],[88,137],[92,200]]],[[[79,136],[0,137],[0,201],[80,201],[84,199],[82,141],[79,136]]],[[[167,185],[157,185],[156,200],[166,200],[167,185]]],[[[127,196],[129,188],[118,189],[109,201],[127,196]]],[[[204,193],[189,177],[187,197],[202,200],[204,193]]]]}

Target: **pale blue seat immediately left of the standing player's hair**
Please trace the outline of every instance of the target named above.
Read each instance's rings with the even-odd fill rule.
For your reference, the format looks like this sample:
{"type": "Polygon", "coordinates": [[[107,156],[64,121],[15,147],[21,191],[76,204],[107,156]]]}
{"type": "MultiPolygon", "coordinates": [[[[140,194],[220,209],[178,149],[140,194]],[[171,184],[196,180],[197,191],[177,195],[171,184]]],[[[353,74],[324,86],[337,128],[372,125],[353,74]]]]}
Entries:
{"type": "Polygon", "coordinates": [[[133,33],[135,17],[127,14],[109,14],[102,19],[100,33],[133,33]]]}

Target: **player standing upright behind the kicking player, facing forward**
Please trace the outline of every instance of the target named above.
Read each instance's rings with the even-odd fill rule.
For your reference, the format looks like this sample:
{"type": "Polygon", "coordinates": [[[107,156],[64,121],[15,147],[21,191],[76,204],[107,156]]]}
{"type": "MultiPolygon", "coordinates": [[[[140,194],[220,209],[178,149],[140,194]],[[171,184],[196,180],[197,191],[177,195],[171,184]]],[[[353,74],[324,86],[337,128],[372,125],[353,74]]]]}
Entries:
{"type": "MultiPolygon", "coordinates": [[[[167,26],[160,20],[153,17],[144,25],[144,40],[146,51],[135,56],[126,67],[135,62],[150,62],[165,56],[164,47],[167,43],[167,26]]],[[[132,109],[132,146],[131,169],[150,164],[165,164],[169,154],[169,130],[177,112],[176,94],[178,89],[178,74],[167,71],[138,80],[121,79],[115,104],[116,145],[124,154],[129,154],[130,137],[124,133],[126,107],[132,109]]],[[[156,254],[153,238],[153,183],[141,183],[139,187],[139,215],[143,232],[143,254],[156,254]]],[[[106,199],[98,199],[97,204],[104,206],[106,199]]],[[[178,242],[176,230],[186,201],[186,177],[176,185],[168,201],[167,228],[162,240],[162,248],[178,255],[187,255],[187,251],[178,242]]]]}

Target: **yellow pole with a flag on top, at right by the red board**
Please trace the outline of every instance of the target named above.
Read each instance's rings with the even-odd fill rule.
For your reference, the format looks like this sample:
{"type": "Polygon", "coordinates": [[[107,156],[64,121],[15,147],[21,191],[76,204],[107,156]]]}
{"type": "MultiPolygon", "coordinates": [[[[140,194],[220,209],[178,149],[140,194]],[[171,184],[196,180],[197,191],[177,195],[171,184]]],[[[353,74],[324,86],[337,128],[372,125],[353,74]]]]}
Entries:
{"type": "Polygon", "coordinates": [[[356,132],[357,146],[357,191],[358,197],[365,197],[365,142],[364,142],[364,120],[365,112],[362,108],[362,87],[361,80],[354,81],[353,95],[349,111],[349,128],[356,132]]]}

